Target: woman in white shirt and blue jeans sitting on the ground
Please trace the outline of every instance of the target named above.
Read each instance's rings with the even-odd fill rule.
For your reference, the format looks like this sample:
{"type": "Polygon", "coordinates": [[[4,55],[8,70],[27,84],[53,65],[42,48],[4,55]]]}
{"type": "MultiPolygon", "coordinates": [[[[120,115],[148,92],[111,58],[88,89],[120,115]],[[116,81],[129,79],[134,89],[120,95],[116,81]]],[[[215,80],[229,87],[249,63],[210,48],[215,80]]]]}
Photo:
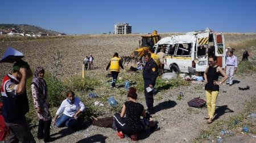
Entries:
{"type": "Polygon", "coordinates": [[[63,100],[52,121],[59,128],[74,127],[77,123],[77,116],[84,110],[85,106],[80,98],[75,97],[73,91],[68,91],[67,99],[63,100]]]}

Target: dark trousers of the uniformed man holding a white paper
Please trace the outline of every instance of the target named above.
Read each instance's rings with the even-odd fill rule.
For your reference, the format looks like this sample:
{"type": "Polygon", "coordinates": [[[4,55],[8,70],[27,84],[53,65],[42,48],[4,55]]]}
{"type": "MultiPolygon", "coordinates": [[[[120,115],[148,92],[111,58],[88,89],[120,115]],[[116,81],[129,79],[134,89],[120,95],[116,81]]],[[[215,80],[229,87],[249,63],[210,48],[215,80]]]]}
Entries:
{"type": "Polygon", "coordinates": [[[149,79],[144,79],[144,95],[146,99],[147,111],[154,112],[153,91],[147,92],[146,90],[146,88],[149,87],[150,83],[151,81],[149,79]]]}

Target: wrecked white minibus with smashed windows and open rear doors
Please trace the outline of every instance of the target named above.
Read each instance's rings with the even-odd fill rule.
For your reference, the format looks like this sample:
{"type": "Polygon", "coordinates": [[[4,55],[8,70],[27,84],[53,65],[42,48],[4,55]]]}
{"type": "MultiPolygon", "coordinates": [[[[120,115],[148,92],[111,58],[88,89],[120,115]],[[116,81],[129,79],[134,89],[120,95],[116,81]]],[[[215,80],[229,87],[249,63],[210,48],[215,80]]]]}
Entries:
{"type": "Polygon", "coordinates": [[[185,35],[163,37],[154,45],[155,53],[164,49],[164,70],[195,73],[207,69],[208,56],[217,56],[217,65],[225,68],[225,41],[222,32],[188,32],[185,35]]]}

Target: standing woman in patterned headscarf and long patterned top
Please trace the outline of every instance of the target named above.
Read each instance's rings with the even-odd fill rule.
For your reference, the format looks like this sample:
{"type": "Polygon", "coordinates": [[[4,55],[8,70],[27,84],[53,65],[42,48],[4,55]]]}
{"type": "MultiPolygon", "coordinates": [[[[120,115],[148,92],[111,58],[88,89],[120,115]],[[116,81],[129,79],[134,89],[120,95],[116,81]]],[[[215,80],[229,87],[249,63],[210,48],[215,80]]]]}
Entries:
{"type": "Polygon", "coordinates": [[[52,117],[51,113],[49,112],[47,85],[43,78],[44,68],[38,66],[38,68],[35,69],[34,78],[31,84],[31,91],[34,99],[36,114],[39,117],[38,138],[43,138],[44,142],[49,142],[51,140],[49,134],[52,117]]]}

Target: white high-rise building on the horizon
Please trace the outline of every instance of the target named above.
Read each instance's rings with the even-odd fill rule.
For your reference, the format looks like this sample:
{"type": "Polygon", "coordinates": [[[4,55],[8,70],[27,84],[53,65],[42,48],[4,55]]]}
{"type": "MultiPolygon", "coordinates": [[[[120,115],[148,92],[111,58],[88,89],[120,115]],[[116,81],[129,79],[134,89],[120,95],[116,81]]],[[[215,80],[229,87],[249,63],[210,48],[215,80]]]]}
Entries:
{"type": "Polygon", "coordinates": [[[129,23],[114,24],[114,34],[129,34],[131,33],[131,25],[129,23]]]}

